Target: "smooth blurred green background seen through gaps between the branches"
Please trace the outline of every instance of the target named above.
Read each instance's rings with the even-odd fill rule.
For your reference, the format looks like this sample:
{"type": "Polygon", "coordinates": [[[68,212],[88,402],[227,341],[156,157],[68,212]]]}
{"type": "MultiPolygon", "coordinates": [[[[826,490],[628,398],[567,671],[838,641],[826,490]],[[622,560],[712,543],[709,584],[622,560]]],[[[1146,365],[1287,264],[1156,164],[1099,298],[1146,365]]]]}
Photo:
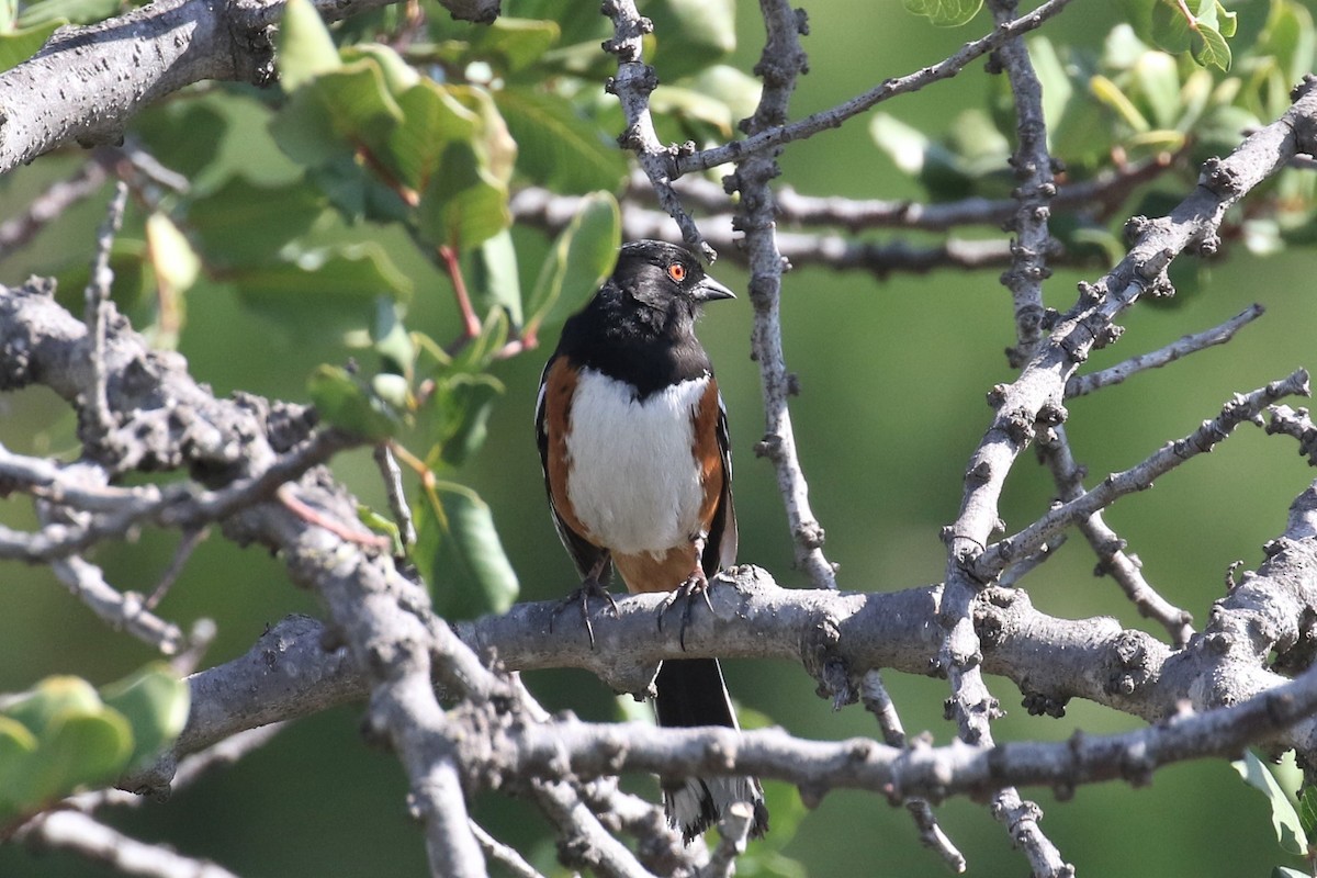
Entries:
{"type": "MultiPolygon", "coordinates": [[[[516,13],[515,0],[506,5],[510,14],[516,13]]],[[[793,100],[795,116],[935,62],[984,29],[984,16],[968,29],[938,30],[896,7],[846,0],[809,4],[810,74],[793,100]]],[[[589,12],[593,7],[585,4],[581,14],[589,12]]],[[[763,24],[752,4],[739,4],[738,14],[740,49],[734,63],[748,70],[757,58],[763,24]]],[[[1092,43],[1114,21],[1106,4],[1075,4],[1046,32],[1056,42],[1092,43]]],[[[959,78],[884,109],[936,132],[960,109],[984,104],[989,87],[982,65],[975,63],[959,78]]],[[[215,100],[241,118],[249,99],[236,90],[215,100]]],[[[232,134],[224,149],[234,165],[258,178],[281,179],[292,170],[254,125],[232,134]]],[[[0,219],[21,209],[46,180],[68,172],[74,161],[51,157],[12,174],[0,188],[0,219]]],[[[781,182],[806,194],[922,195],[873,147],[863,117],[792,145],[781,165],[781,182]]],[[[103,204],[104,199],[94,199],[45,232],[34,247],[0,263],[0,282],[16,284],[57,257],[86,261],[103,204]]],[[[520,229],[515,234],[519,249],[524,244],[523,272],[533,279],[529,254],[537,234],[520,229]]],[[[399,245],[394,253],[416,284],[408,323],[436,338],[452,336],[456,324],[446,282],[411,255],[400,237],[382,237],[399,245]]],[[[1262,301],[1267,316],[1226,348],[1072,400],[1069,434],[1092,473],[1125,469],[1214,416],[1230,394],[1314,365],[1312,255],[1291,250],[1260,261],[1237,247],[1231,257],[1213,267],[1204,290],[1168,304],[1137,307],[1125,321],[1121,344],[1101,351],[1089,367],[1159,348],[1221,323],[1252,301],[1262,301]]],[[[732,288],[745,287],[744,272],[731,259],[720,261],[712,274],[732,288]]],[[[1046,286],[1047,304],[1064,309],[1073,300],[1075,282],[1097,274],[1058,272],[1046,286]]],[[[271,328],[223,284],[203,280],[188,292],[187,307],[180,350],[192,375],[217,394],[241,388],[304,400],[308,373],[320,362],[345,357],[338,348],[271,328]]],[[[827,528],[827,555],[842,565],[842,587],[886,591],[940,579],[944,550],[938,532],[955,517],[964,462],[988,424],[985,392],[1011,378],[1002,355],[1013,342],[1010,297],[997,271],[877,280],[802,269],[786,278],[782,311],[789,367],[802,386],[792,403],[799,454],[810,500],[827,528]]],[[[749,304],[741,296],[711,308],[701,328],[731,416],[740,559],[766,567],[785,586],[802,586],[792,570],[772,469],[752,452],[763,432],[763,408],[756,365],[748,358],[749,324],[749,304]]],[[[489,444],[462,473],[494,508],[523,598],[529,600],[556,598],[574,586],[541,500],[531,433],[545,354],[536,351],[495,367],[507,396],[490,423],[489,444]]],[[[0,398],[0,441],[16,452],[68,453],[75,448],[71,415],[46,391],[0,398]]],[[[362,499],[382,503],[369,452],[341,455],[335,471],[362,499]]],[[[1230,562],[1242,558],[1246,567],[1260,562],[1260,545],[1280,533],[1289,500],[1310,479],[1289,440],[1243,426],[1216,453],[1160,479],[1155,490],[1122,500],[1109,521],[1142,558],[1148,579],[1201,624],[1210,602],[1223,595],[1230,562]]],[[[1023,455],[1002,502],[1008,527],[1027,524],[1051,495],[1046,471],[1031,453],[1023,455]]],[[[9,527],[32,525],[22,503],[0,507],[0,520],[9,527]]],[[[116,586],[149,591],[171,550],[171,536],[145,532],[133,545],[100,548],[94,559],[116,586]]],[[[1072,538],[1025,584],[1046,612],[1112,615],[1163,636],[1137,616],[1112,581],[1093,578],[1092,567],[1092,553],[1072,538]]],[[[45,569],[0,567],[0,691],[25,688],[53,673],[104,683],[150,658],[130,638],[111,636],[45,569]]],[[[161,612],[184,625],[200,616],[216,619],[220,636],[205,658],[216,663],[245,652],[269,623],[290,612],[316,612],[316,607],[290,586],[278,559],[240,550],[212,534],[161,612]]],[[[876,733],[872,717],[857,706],[834,713],[794,665],[730,662],[727,677],[740,702],[792,733],[819,738],[876,733]]],[[[549,710],[598,720],[618,716],[616,700],[587,674],[539,673],[527,679],[549,710]]],[[[944,682],[897,674],[886,682],[907,731],[927,729],[936,742],[951,741],[952,728],[942,719],[944,682]]],[[[1071,704],[1062,720],[1030,717],[1018,707],[1011,683],[989,679],[989,684],[1009,711],[994,724],[998,741],[1060,740],[1075,729],[1101,733],[1139,725],[1083,703],[1071,704]]],[[[363,745],[360,716],[358,706],[299,721],[271,745],[169,803],[144,803],[133,812],[103,816],[138,837],[165,840],[250,878],[423,874],[424,852],[406,815],[403,774],[390,756],[363,745]]],[[[630,783],[655,792],[645,778],[630,783]]],[[[1172,766],[1138,790],[1123,783],[1081,787],[1064,804],[1046,790],[1026,795],[1043,807],[1044,832],[1080,874],[1262,875],[1284,861],[1262,796],[1223,762],[1172,766]]],[[[482,795],[474,815],[541,867],[551,867],[552,841],[533,808],[482,795]]],[[[1027,871],[985,807],[957,799],[939,815],[969,858],[971,874],[1027,871]]],[[[814,875],[925,875],[943,869],[919,846],[903,810],[856,792],[828,795],[805,817],[786,853],[814,875]]],[[[63,853],[0,845],[0,875],[92,874],[104,873],[63,853]]]]}

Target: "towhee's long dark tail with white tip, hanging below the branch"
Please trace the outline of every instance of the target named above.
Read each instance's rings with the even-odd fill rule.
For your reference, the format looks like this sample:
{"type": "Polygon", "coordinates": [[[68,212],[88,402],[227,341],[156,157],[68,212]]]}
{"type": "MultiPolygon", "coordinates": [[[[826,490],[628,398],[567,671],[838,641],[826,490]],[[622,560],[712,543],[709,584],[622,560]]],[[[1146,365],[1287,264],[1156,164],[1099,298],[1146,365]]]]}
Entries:
{"type": "MultiPolygon", "coordinates": [[[[665,661],[658,669],[655,687],[658,690],[655,699],[658,725],[740,728],[716,658],[665,661]]],[[[681,829],[687,842],[718,823],[727,806],[734,802],[747,802],[755,810],[749,828],[752,839],[768,832],[764,790],[755,778],[682,778],[676,786],[664,790],[668,821],[681,829]]]]}

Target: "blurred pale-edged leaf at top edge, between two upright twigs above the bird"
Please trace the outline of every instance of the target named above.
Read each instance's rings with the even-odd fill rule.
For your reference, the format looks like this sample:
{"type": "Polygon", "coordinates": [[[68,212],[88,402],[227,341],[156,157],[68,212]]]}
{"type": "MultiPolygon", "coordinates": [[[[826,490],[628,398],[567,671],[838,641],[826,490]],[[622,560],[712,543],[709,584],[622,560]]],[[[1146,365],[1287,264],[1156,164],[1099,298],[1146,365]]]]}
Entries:
{"type": "Polygon", "coordinates": [[[651,63],[672,82],[699,72],[736,50],[735,0],[653,0],[645,4],[657,45],[651,63]]]}

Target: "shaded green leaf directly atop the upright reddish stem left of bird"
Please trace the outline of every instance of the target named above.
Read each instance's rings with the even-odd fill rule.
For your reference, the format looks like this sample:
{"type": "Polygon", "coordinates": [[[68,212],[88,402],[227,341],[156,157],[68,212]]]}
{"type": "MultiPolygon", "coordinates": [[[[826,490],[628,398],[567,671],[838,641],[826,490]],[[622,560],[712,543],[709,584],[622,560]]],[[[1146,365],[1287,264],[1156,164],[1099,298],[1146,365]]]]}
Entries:
{"type": "Polygon", "coordinates": [[[449,143],[440,166],[441,171],[431,178],[416,209],[421,237],[465,250],[479,246],[512,224],[507,187],[482,167],[470,142],[449,143]]]}

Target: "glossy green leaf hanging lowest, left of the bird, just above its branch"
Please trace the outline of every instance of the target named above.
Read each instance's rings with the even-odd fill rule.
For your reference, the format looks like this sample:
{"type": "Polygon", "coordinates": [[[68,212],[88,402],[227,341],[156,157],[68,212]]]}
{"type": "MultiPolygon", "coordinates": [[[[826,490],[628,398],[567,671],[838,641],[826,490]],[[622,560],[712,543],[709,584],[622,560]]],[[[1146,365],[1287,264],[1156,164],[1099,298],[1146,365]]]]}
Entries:
{"type": "Polygon", "coordinates": [[[412,559],[445,619],[506,612],[520,591],[489,505],[466,487],[425,491],[416,509],[412,559]]]}

